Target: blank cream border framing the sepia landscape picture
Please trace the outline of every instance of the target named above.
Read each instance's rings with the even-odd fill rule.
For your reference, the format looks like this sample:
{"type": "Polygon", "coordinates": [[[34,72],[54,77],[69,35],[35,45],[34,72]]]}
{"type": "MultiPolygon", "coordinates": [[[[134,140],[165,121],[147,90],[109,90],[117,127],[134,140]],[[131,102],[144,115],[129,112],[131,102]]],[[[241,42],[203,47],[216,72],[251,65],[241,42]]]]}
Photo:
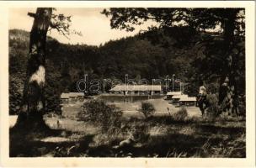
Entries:
{"type": "Polygon", "coordinates": [[[255,3],[250,1],[125,1],[125,2],[0,2],[0,124],[1,162],[5,166],[255,166],[255,3]],[[8,157],[8,8],[109,8],[109,7],[152,7],[152,8],[246,8],[246,159],[210,158],[9,158],[8,157]]]}

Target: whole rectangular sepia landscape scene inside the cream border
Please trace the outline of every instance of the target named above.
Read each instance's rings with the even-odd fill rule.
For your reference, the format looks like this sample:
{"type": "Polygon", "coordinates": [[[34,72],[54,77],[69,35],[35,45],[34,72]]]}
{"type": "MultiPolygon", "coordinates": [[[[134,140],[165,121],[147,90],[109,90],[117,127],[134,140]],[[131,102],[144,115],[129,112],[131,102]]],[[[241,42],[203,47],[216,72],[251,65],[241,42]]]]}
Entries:
{"type": "Polygon", "coordinates": [[[246,10],[8,8],[8,156],[246,159],[246,10]]]}

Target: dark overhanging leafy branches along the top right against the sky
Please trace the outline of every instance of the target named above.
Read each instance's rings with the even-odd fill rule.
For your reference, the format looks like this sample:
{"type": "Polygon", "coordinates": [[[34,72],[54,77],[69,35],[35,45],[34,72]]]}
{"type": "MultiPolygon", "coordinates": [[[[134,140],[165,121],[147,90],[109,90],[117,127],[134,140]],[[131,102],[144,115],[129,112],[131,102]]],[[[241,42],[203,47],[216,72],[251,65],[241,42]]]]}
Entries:
{"type": "MultiPolygon", "coordinates": [[[[244,8],[109,8],[102,11],[111,17],[113,29],[127,31],[133,31],[135,25],[144,24],[147,20],[158,23],[159,28],[189,25],[194,29],[215,29],[232,14],[241,12],[244,8]]],[[[237,32],[243,31],[244,16],[237,14],[235,19],[237,32]]]]}

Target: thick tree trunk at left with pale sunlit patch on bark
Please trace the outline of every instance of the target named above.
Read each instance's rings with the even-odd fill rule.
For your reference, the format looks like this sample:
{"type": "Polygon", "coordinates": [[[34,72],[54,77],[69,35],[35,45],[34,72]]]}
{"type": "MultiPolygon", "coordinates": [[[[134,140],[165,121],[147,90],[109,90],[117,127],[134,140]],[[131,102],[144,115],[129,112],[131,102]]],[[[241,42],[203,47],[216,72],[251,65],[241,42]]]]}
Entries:
{"type": "MultiPolygon", "coordinates": [[[[51,22],[52,8],[37,8],[36,13],[28,13],[35,18],[30,32],[29,60],[24,83],[23,109],[19,113],[19,124],[44,123],[45,108],[45,43],[51,22]]],[[[23,125],[24,125],[23,124],[23,125]]]]}

